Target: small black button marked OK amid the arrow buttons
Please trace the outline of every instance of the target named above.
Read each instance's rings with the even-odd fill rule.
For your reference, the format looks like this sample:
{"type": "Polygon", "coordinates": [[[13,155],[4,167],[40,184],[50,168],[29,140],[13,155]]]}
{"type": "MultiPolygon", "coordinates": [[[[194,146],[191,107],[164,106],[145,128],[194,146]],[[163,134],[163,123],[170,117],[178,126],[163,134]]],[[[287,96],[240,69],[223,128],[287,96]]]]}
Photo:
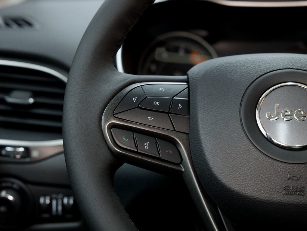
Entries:
{"type": "Polygon", "coordinates": [[[172,98],[168,97],[147,97],[139,106],[146,109],[168,112],[171,101],[172,98]]]}

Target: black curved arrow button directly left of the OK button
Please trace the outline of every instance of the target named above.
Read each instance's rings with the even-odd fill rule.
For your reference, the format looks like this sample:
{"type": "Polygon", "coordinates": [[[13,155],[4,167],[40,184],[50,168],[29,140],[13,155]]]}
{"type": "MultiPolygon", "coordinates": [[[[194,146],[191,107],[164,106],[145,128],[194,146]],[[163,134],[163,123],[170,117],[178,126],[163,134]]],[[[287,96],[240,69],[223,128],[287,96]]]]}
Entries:
{"type": "Polygon", "coordinates": [[[146,98],[142,87],[131,90],[116,107],[114,114],[138,107],[139,103],[146,98]]]}

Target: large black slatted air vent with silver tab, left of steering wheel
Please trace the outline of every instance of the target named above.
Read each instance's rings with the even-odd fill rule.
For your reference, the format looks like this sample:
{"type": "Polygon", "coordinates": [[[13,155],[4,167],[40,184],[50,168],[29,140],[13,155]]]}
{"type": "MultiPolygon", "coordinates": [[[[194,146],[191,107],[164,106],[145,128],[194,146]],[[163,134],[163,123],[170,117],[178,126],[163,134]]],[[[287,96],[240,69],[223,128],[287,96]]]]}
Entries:
{"type": "Polygon", "coordinates": [[[66,79],[51,73],[0,64],[0,127],[62,133],[66,79]]]}

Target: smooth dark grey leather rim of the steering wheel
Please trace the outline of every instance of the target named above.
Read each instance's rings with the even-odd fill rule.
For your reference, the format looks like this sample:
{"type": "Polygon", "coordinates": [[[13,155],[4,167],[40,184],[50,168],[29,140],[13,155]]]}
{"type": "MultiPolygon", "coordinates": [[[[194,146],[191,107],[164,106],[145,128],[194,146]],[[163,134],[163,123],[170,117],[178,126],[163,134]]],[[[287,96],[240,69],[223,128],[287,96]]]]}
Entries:
{"type": "Polygon", "coordinates": [[[140,81],[119,73],[113,59],[151,3],[106,0],[88,26],[69,73],[63,116],[65,160],[77,204],[91,230],[137,230],[113,187],[121,163],[107,147],[101,118],[119,90],[140,81]]]}

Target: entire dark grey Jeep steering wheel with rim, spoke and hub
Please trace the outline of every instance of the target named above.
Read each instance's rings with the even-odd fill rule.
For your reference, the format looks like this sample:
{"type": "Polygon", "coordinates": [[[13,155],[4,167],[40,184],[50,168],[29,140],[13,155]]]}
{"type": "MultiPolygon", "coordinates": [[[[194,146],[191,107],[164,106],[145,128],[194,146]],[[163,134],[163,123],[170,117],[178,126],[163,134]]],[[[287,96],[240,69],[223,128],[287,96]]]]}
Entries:
{"type": "Polygon", "coordinates": [[[122,163],[183,177],[208,230],[226,230],[221,214],[238,223],[304,223],[307,56],[229,56],[179,77],[120,73],[114,57],[152,2],[106,0],[69,73],[65,160],[90,229],[137,230],[113,186],[122,163]],[[143,97],[132,97],[135,89],[143,97]],[[146,110],[138,97],[169,98],[173,106],[146,110]],[[172,114],[176,99],[187,98],[185,114],[172,114]]]}

